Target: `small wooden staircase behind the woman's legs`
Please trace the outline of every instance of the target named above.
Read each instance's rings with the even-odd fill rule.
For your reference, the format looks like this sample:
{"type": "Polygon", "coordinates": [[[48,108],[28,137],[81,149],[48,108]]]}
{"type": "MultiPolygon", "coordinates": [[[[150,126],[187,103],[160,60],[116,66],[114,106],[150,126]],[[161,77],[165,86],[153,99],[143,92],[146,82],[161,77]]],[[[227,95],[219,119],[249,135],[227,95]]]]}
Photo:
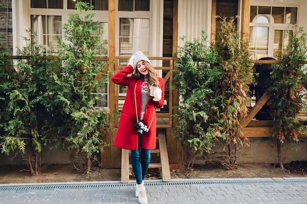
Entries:
{"type": "MultiPolygon", "coordinates": [[[[159,168],[162,171],[162,181],[171,181],[170,165],[168,161],[166,135],[164,130],[157,130],[157,146],[158,149],[153,149],[151,154],[157,154],[160,157],[160,163],[150,163],[149,168],[159,168]]],[[[129,164],[129,150],[122,149],[122,176],[121,182],[129,182],[129,171],[132,170],[129,164]]]]}

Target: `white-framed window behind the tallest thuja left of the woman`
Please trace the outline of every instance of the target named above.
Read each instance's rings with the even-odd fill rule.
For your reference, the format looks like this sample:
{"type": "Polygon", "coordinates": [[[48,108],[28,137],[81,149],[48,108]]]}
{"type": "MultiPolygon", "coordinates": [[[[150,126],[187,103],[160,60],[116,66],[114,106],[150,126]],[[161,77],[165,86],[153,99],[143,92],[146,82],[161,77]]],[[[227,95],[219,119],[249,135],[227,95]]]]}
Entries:
{"type": "MultiPolygon", "coordinates": [[[[37,36],[31,36],[32,42],[45,46],[43,54],[56,54],[57,38],[62,38],[62,25],[67,23],[68,14],[75,12],[75,4],[81,0],[24,0],[30,4],[28,11],[29,25],[37,36]]],[[[94,6],[94,21],[100,21],[104,34],[101,42],[106,45],[99,48],[98,55],[107,56],[108,50],[105,49],[108,43],[108,0],[82,0],[94,6]]],[[[103,62],[102,62],[103,63],[103,62]]],[[[106,63],[106,62],[105,62],[106,63]]],[[[108,84],[103,84],[102,90],[98,95],[100,99],[96,101],[97,107],[108,106],[108,84]]]]}

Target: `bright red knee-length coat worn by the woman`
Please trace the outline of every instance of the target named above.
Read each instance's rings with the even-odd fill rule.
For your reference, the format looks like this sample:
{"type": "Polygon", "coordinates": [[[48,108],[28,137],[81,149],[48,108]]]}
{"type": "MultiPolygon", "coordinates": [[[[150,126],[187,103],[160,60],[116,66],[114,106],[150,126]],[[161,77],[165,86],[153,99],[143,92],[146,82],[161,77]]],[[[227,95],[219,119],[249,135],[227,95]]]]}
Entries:
{"type": "MultiPolygon", "coordinates": [[[[128,66],[115,73],[111,80],[115,84],[127,86],[127,96],[120,117],[117,134],[114,140],[114,145],[128,150],[136,150],[138,148],[138,135],[134,124],[137,121],[135,107],[137,107],[138,118],[141,117],[142,97],[141,85],[143,79],[134,79],[133,75],[127,77],[133,71],[131,66],[128,66]],[[135,105],[136,98],[136,105],[135,105]]],[[[156,142],[156,108],[161,108],[164,105],[164,79],[157,77],[159,80],[159,88],[162,90],[162,97],[159,101],[148,100],[145,115],[143,119],[144,125],[149,129],[148,133],[144,133],[141,137],[141,147],[144,149],[155,149],[156,142]]]]}

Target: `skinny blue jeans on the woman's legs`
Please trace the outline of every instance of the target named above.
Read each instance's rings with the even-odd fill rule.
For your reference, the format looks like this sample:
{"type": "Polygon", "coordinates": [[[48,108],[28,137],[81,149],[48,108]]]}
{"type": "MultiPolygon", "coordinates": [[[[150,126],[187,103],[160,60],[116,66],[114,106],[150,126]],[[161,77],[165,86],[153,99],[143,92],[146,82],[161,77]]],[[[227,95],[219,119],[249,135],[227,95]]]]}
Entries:
{"type": "Polygon", "coordinates": [[[131,150],[131,165],[137,184],[141,184],[147,174],[151,159],[151,150],[139,148],[131,150]]]}

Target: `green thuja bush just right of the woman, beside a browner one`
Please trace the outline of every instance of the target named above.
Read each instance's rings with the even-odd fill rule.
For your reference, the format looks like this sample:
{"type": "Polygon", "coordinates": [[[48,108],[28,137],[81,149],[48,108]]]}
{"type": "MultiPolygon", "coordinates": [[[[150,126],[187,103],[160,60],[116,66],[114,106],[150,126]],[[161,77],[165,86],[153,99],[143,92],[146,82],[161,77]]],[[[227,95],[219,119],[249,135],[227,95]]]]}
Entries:
{"type": "Polygon", "coordinates": [[[178,70],[174,80],[180,102],[175,115],[179,120],[175,136],[185,150],[186,170],[192,168],[197,154],[210,154],[214,140],[221,136],[212,127],[218,114],[218,107],[213,101],[219,100],[214,96],[214,84],[220,72],[211,67],[216,62],[217,53],[212,52],[207,44],[207,35],[202,31],[200,39],[186,41],[184,45],[178,46],[178,70]]]}

